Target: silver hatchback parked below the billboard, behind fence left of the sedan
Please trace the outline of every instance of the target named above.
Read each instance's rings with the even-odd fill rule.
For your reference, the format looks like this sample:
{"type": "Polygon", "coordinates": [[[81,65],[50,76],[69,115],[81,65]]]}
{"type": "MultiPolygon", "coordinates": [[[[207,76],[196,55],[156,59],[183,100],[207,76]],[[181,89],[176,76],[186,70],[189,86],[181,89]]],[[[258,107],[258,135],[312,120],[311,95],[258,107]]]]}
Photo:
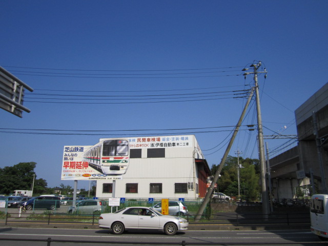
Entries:
{"type": "Polygon", "coordinates": [[[67,209],[67,213],[72,214],[100,214],[105,211],[107,202],[103,200],[83,200],[75,204],[75,210],[73,206],[67,209]]]}

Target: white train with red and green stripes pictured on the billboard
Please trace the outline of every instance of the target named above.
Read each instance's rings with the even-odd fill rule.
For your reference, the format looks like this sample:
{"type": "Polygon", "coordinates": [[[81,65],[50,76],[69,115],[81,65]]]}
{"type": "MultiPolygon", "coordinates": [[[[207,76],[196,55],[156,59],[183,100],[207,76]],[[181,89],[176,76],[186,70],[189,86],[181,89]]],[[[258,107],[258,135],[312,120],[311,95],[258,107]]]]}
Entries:
{"type": "Polygon", "coordinates": [[[89,167],[107,175],[125,174],[129,168],[129,141],[123,138],[108,138],[92,146],[83,159],[89,167]]]}

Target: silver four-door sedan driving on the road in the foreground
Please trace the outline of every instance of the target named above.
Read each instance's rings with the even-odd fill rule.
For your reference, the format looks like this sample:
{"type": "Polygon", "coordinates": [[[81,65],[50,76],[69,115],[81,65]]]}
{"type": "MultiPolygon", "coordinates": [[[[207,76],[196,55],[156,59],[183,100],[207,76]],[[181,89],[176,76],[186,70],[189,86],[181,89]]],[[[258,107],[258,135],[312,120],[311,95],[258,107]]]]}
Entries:
{"type": "Polygon", "coordinates": [[[159,230],[167,235],[188,230],[188,220],[171,215],[162,215],[152,208],[128,207],[115,213],[100,214],[99,228],[111,230],[113,234],[122,234],[125,230],[159,230]]]}

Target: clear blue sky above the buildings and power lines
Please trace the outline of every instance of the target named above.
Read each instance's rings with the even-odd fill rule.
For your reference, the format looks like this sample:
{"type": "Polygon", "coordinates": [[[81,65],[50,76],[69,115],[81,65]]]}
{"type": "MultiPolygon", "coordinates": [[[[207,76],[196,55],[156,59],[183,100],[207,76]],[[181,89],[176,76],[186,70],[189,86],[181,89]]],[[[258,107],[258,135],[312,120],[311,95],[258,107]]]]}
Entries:
{"type": "MultiPolygon", "coordinates": [[[[327,10],[327,1],[2,1],[0,66],[34,92],[23,118],[0,111],[0,167],[35,161],[48,187],[73,186],[60,180],[64,146],[165,133],[195,134],[218,164],[246,100],[232,91],[250,88],[241,70],[258,60],[268,71],[259,75],[264,135],[296,134],[294,111],[327,83],[327,10]],[[50,99],[64,94],[75,96],[50,99]],[[45,129],[81,135],[31,134],[45,129]]],[[[256,124],[254,112],[252,103],[243,125],[256,124]]],[[[258,158],[256,132],[242,129],[230,155],[258,158]]],[[[275,154],[290,144],[265,142],[275,154]]]]}

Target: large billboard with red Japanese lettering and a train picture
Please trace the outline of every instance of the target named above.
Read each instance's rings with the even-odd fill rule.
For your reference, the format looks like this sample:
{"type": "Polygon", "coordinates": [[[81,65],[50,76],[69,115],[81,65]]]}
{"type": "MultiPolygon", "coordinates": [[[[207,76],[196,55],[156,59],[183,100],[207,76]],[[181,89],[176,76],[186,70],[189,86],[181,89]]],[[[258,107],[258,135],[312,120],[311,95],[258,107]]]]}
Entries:
{"type": "Polygon", "coordinates": [[[129,141],[107,138],[93,146],[64,146],[61,180],[122,179],[129,168],[129,141]]]}

